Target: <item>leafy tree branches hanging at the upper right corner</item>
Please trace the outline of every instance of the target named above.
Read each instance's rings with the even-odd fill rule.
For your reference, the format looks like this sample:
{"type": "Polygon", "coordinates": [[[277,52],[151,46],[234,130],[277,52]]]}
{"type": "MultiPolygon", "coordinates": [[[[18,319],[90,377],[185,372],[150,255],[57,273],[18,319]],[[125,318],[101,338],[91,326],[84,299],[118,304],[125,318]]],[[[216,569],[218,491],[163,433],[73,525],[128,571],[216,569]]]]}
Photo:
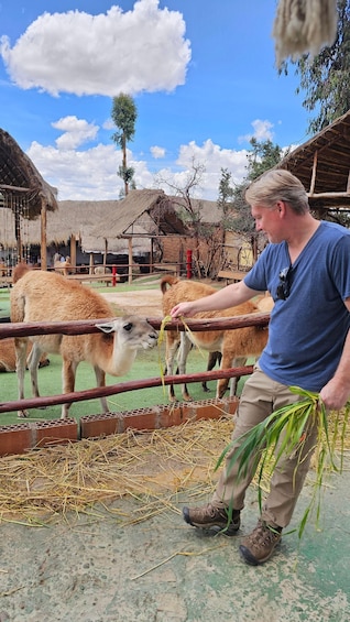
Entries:
{"type": "Polygon", "coordinates": [[[297,92],[305,91],[304,108],[316,111],[308,132],[315,134],[350,109],[350,0],[338,0],[337,37],[314,59],[303,55],[298,61],[285,62],[280,70],[288,73],[295,65],[300,78],[297,92]]]}

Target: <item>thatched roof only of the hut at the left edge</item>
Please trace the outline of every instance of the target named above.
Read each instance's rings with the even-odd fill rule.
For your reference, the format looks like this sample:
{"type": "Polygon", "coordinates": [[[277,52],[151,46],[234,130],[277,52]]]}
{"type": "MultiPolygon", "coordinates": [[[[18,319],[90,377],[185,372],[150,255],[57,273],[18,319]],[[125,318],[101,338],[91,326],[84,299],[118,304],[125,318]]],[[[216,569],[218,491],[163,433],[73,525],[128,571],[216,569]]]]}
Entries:
{"type": "Polygon", "coordinates": [[[0,129],[0,194],[2,206],[11,208],[14,197],[26,200],[25,218],[37,218],[42,207],[57,209],[56,190],[41,176],[33,162],[8,132],[0,129]]]}

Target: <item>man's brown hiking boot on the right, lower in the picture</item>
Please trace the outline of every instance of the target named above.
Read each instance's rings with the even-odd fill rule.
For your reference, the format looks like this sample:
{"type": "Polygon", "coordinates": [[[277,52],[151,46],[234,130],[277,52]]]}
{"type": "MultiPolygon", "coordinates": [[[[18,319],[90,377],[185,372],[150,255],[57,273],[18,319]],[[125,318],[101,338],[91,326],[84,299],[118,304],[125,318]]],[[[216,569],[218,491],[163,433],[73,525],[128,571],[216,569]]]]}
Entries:
{"type": "Polygon", "coordinates": [[[282,527],[272,527],[259,520],[252,533],[242,539],[240,554],[247,564],[258,566],[272,556],[276,545],[281,542],[282,527]]]}

